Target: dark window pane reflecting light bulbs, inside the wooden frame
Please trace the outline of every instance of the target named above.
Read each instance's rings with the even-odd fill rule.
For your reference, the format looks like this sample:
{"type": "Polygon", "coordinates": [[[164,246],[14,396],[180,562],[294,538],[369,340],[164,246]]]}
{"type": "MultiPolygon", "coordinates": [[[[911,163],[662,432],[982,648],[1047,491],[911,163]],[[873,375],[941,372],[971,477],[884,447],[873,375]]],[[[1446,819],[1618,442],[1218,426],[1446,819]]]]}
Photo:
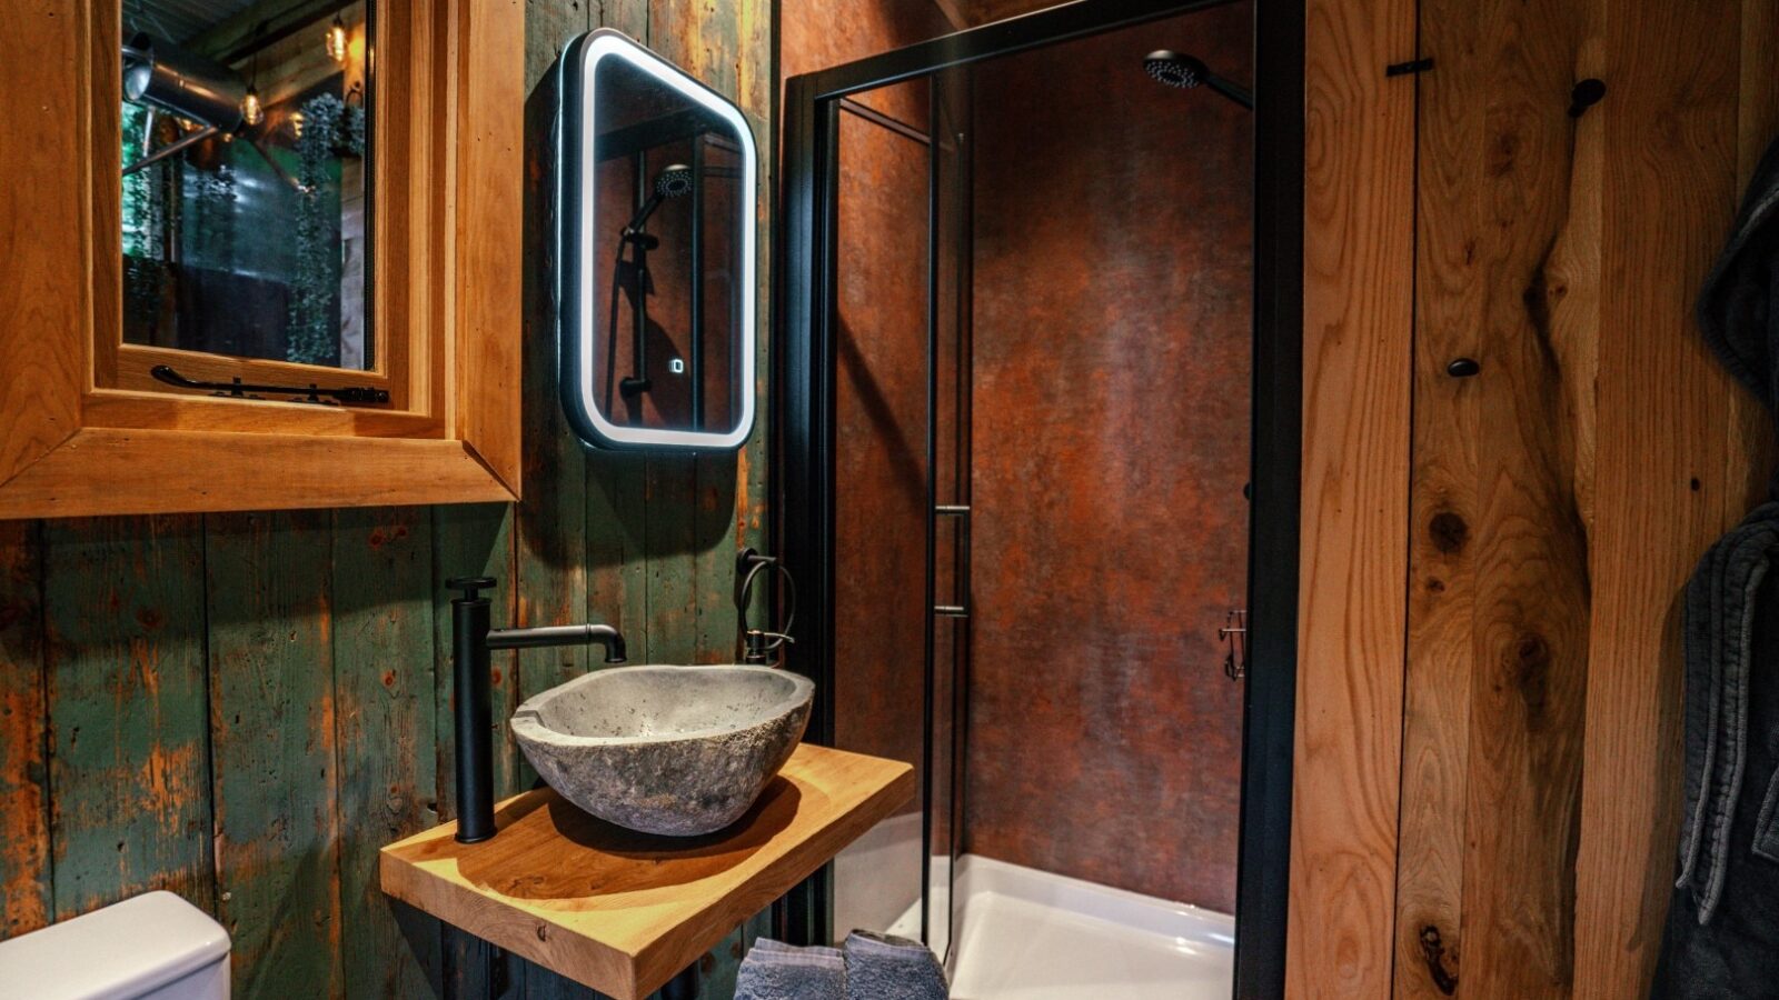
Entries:
{"type": "Polygon", "coordinates": [[[125,0],[125,343],[375,365],[372,14],[125,0]]]}

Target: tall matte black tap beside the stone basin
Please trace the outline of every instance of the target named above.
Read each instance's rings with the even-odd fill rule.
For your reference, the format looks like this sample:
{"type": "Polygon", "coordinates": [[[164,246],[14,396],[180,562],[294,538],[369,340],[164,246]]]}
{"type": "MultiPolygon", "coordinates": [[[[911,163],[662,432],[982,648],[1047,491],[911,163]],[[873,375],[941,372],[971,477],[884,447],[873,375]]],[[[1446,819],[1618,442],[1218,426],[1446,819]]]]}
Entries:
{"type": "Polygon", "coordinates": [[[477,843],[495,836],[495,747],[489,706],[491,649],[543,649],[550,646],[605,646],[607,664],[624,662],[624,637],[610,625],[543,625],[537,628],[491,628],[489,603],[482,591],[493,577],[457,577],[445,584],[463,596],[450,601],[452,660],[457,685],[457,842],[477,843]]]}

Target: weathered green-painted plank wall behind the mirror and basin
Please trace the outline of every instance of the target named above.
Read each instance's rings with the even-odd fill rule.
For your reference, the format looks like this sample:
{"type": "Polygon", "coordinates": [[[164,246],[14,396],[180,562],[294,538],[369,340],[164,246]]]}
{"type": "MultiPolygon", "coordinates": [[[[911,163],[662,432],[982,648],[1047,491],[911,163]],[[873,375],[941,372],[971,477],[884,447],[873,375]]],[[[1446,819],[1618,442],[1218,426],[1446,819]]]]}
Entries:
{"type": "MultiPolygon", "coordinates": [[[[772,0],[527,4],[521,504],[0,521],[0,938],[167,888],[233,932],[249,1000],[592,995],[397,911],[377,847],[448,819],[445,578],[498,577],[496,625],[617,623],[633,662],[733,657],[765,422],[738,454],[585,452],[548,390],[537,84],[600,25],[735,98],[774,148],[772,0]]],[[[761,235],[767,221],[763,205],[761,235]]],[[[761,393],[763,345],[765,329],[761,393]]],[[[496,701],[594,665],[502,655],[496,701]]],[[[527,786],[498,747],[502,794],[527,786]]],[[[706,996],[731,995],[740,948],[738,931],[706,956],[706,996]]]]}

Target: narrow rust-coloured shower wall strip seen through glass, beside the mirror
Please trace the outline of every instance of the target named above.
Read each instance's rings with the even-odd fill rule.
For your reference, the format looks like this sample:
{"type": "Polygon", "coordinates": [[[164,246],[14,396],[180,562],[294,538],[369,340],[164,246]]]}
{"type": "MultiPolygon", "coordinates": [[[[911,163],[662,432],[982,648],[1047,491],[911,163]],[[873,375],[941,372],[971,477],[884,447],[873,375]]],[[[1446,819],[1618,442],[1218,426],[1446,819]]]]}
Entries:
{"type": "Polygon", "coordinates": [[[840,162],[834,738],[920,767],[927,148],[841,116],[840,162]]]}

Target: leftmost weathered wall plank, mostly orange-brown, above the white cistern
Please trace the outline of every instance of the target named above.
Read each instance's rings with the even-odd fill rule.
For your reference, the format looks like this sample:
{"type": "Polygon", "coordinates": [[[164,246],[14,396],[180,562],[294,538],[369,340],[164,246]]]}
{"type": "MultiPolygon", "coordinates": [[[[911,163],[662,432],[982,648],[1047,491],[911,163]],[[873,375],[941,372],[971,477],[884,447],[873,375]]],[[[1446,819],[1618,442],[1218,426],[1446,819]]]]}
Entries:
{"type": "Polygon", "coordinates": [[[0,940],[50,922],[41,557],[37,521],[0,521],[0,940]]]}

